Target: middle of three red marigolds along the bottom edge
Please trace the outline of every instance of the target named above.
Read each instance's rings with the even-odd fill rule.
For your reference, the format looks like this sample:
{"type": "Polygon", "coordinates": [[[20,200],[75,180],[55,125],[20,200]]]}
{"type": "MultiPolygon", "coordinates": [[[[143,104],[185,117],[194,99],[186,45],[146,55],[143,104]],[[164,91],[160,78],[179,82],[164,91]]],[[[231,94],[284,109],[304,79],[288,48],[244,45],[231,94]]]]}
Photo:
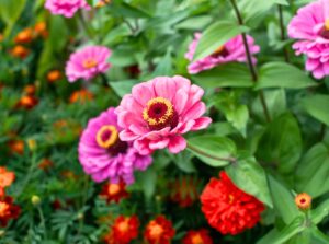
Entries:
{"type": "Polygon", "coordinates": [[[174,234],[171,221],[163,216],[158,216],[147,224],[144,237],[149,244],[170,244],[174,234]]]}

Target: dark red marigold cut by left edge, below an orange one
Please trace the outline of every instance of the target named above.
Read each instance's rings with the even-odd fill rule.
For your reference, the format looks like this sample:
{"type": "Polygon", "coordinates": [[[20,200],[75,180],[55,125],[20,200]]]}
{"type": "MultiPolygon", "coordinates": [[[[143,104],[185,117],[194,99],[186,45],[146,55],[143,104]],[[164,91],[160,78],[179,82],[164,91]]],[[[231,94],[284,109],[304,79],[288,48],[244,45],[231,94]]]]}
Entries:
{"type": "Polygon", "coordinates": [[[21,212],[19,206],[13,205],[13,199],[9,196],[0,200],[0,225],[5,226],[10,219],[16,219],[21,212]]]}

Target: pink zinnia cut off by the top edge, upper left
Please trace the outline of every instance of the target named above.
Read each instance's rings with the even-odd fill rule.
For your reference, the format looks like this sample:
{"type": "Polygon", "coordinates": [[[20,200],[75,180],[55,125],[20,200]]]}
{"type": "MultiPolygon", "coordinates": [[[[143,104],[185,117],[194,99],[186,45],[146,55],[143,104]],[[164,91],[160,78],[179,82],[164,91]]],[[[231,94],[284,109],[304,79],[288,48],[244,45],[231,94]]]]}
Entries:
{"type": "Polygon", "coordinates": [[[73,16],[79,9],[90,9],[86,0],[46,0],[45,8],[52,14],[64,15],[66,18],[73,16]]]}

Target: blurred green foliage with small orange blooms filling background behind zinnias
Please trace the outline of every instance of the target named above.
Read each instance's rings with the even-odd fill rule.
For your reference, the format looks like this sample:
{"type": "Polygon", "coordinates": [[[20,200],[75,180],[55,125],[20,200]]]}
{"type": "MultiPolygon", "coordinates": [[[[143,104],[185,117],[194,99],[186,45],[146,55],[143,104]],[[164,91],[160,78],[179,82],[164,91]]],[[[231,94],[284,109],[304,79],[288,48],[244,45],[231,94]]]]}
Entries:
{"type": "MultiPolygon", "coordinates": [[[[292,16],[310,0],[238,0],[239,20],[235,1],[226,0],[88,2],[90,11],[66,19],[44,1],[0,0],[0,163],[15,174],[5,193],[21,207],[0,242],[101,243],[118,214],[137,214],[141,229],[164,214],[177,232],[172,243],[200,228],[214,243],[329,243],[329,83],[304,70],[286,37],[292,16]],[[36,34],[18,44],[27,27],[36,34]],[[247,32],[261,48],[254,70],[230,62],[189,74],[185,53],[195,32],[203,33],[195,59],[247,32]],[[91,82],[69,83],[65,63],[86,45],[111,48],[112,67],[91,82]],[[213,124],[190,132],[191,148],[179,154],[157,151],[152,165],[135,174],[129,197],[106,202],[102,184],[78,161],[80,132],[133,85],[174,74],[205,89],[213,124]],[[212,229],[198,200],[223,169],[266,206],[256,228],[235,236],[212,229]],[[295,206],[299,193],[313,197],[307,214],[295,206]],[[186,197],[193,205],[181,207],[186,197]]],[[[132,243],[141,240],[140,232],[132,243]]]]}

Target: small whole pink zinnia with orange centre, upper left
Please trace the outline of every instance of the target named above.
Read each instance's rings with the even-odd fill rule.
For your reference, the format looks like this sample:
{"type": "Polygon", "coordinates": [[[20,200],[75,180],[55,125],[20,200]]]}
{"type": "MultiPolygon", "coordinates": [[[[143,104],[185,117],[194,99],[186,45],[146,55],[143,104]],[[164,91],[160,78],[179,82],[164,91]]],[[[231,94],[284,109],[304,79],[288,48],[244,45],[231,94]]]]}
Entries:
{"type": "Polygon", "coordinates": [[[105,73],[111,63],[107,59],[111,50],[102,46],[88,46],[71,54],[66,63],[66,75],[70,82],[78,79],[90,80],[99,73],[105,73]]]}

